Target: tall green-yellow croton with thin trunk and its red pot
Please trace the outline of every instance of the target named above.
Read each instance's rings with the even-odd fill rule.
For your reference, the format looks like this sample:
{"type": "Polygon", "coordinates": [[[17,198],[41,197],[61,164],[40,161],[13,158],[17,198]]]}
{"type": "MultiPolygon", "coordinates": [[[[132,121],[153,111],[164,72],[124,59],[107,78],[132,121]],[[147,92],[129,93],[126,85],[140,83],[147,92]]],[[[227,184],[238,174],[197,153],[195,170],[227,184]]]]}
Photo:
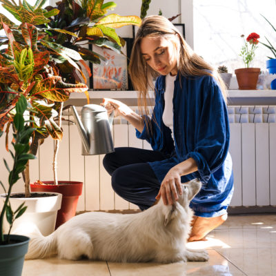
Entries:
{"type": "MultiPolygon", "coordinates": [[[[1,0],[1,2],[4,3],[3,7],[7,8],[21,22],[27,20],[32,22],[37,18],[37,15],[39,15],[39,19],[43,19],[35,23],[39,34],[44,35],[43,39],[37,41],[38,47],[44,50],[47,49],[50,52],[50,61],[54,72],[58,72],[64,81],[70,83],[79,83],[81,79],[86,82],[86,77],[78,63],[81,63],[90,76],[90,69],[85,61],[100,63],[100,59],[104,60],[103,57],[88,48],[89,44],[121,52],[121,46],[124,46],[124,39],[121,39],[116,34],[114,28],[130,24],[139,25],[141,23],[141,19],[137,16],[121,17],[118,14],[105,16],[106,12],[114,8],[116,4],[114,2],[103,3],[103,0],[62,0],[57,3],[57,7],[48,6],[45,9],[42,8],[45,1],[37,1],[34,6],[30,6],[26,1],[23,4],[19,2],[19,6],[8,0],[1,0]],[[22,14],[28,14],[28,17],[22,14]],[[32,14],[33,18],[30,18],[29,14],[32,14]]],[[[79,86],[79,90],[81,88],[84,87],[79,86]]],[[[52,100],[52,109],[59,112],[59,115],[55,116],[58,118],[59,123],[55,124],[54,132],[49,132],[47,126],[44,129],[45,131],[37,132],[37,135],[34,135],[32,147],[32,150],[37,150],[37,146],[49,134],[56,139],[53,161],[54,181],[43,180],[30,184],[32,191],[55,191],[63,195],[56,228],[75,215],[77,200],[79,195],[81,195],[83,185],[79,181],[57,180],[57,150],[62,137],[61,114],[63,101],[68,99],[70,92],[74,92],[74,89],[66,90],[66,92],[59,95],[58,100],[57,94],[59,93],[50,99],[52,100]]],[[[45,98],[46,94],[52,93],[41,93],[40,95],[45,98]]],[[[88,94],[86,95],[88,97],[88,94]]],[[[52,121],[55,122],[55,120],[52,121]]],[[[30,183],[28,164],[25,181],[28,186],[28,183],[30,183]]]]}

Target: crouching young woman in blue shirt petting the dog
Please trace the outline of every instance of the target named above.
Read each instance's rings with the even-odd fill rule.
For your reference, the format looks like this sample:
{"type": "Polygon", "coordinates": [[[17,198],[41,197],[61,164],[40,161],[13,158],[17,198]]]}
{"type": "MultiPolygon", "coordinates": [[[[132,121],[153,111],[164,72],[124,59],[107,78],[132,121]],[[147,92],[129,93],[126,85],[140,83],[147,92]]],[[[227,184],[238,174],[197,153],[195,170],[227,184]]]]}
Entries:
{"type": "Polygon", "coordinates": [[[108,113],[115,110],[115,116],[135,126],[137,137],[146,139],[152,150],[116,148],[106,155],[103,165],[112,176],[112,188],[144,210],[155,199],[172,204],[181,183],[199,178],[203,186],[190,204],[195,216],[189,240],[204,239],[226,220],[233,195],[224,83],[161,16],[142,21],[129,72],[145,115],[113,99],[103,104],[108,113]],[[146,99],[157,75],[150,116],[146,99]]]}

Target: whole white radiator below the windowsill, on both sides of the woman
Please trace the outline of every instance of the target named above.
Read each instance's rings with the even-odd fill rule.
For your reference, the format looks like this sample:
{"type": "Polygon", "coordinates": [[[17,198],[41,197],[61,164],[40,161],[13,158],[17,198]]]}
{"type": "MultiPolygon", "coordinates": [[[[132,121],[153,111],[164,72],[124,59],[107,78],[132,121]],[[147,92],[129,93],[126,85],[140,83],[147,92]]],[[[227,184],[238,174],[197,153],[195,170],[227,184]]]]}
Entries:
{"type": "MultiPolygon", "coordinates": [[[[230,206],[276,205],[275,108],[263,107],[253,110],[244,106],[229,107],[229,112],[230,154],[233,158],[235,177],[235,193],[230,206]],[[274,122],[267,122],[273,120],[274,122]]],[[[124,120],[115,120],[112,135],[115,147],[132,146],[150,149],[148,142],[137,139],[135,129],[124,120]]],[[[0,139],[0,156],[11,161],[5,150],[5,135],[0,139]]],[[[83,193],[77,210],[137,209],[137,206],[129,204],[113,192],[110,175],[102,165],[103,156],[82,156],[81,138],[77,126],[63,125],[63,140],[58,155],[58,178],[83,181],[83,193]]],[[[53,141],[48,138],[40,146],[37,159],[30,161],[31,181],[53,179],[52,157],[53,141]]],[[[1,163],[0,180],[5,184],[7,178],[8,171],[1,163]]],[[[21,179],[14,186],[14,192],[19,191],[23,191],[21,179]]]]}

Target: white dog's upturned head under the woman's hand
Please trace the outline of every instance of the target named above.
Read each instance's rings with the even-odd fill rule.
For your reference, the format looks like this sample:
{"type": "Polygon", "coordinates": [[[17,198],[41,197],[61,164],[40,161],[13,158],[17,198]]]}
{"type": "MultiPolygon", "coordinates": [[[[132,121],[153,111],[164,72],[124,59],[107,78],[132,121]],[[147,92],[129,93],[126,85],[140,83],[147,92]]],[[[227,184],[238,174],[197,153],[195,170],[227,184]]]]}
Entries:
{"type": "Polygon", "coordinates": [[[174,204],[167,206],[164,225],[167,226],[171,219],[173,219],[177,212],[177,203],[184,209],[189,208],[190,201],[199,193],[201,189],[201,181],[199,179],[193,179],[181,184],[182,195],[178,195],[178,200],[174,204]]]}

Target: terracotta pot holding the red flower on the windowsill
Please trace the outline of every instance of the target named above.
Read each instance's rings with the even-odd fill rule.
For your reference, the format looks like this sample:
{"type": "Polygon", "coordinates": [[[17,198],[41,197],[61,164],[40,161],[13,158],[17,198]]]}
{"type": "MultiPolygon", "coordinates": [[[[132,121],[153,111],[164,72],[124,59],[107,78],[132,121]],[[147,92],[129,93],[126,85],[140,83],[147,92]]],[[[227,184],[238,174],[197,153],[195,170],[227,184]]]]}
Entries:
{"type": "Polygon", "coordinates": [[[240,90],[255,90],[260,68],[239,68],[235,70],[240,90]]]}

